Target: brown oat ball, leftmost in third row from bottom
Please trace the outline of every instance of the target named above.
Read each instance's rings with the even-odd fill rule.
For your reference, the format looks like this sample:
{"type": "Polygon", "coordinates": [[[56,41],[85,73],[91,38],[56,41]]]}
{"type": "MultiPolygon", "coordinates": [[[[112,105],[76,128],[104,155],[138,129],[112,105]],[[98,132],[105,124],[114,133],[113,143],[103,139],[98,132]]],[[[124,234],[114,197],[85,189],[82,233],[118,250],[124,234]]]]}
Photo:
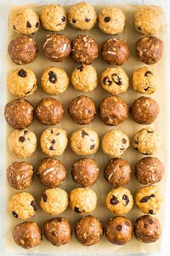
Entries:
{"type": "Polygon", "coordinates": [[[34,178],[34,170],[30,163],[14,162],[6,170],[9,185],[14,189],[30,187],[34,178]]]}

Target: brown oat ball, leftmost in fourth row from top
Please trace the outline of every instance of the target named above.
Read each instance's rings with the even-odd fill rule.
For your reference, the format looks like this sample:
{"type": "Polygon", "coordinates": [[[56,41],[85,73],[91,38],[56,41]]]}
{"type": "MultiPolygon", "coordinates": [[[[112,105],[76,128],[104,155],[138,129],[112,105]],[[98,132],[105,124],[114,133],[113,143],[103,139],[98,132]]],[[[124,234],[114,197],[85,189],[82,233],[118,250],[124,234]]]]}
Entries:
{"type": "Polygon", "coordinates": [[[6,122],[14,129],[27,128],[33,119],[33,107],[29,101],[14,100],[6,104],[4,109],[6,122]]]}

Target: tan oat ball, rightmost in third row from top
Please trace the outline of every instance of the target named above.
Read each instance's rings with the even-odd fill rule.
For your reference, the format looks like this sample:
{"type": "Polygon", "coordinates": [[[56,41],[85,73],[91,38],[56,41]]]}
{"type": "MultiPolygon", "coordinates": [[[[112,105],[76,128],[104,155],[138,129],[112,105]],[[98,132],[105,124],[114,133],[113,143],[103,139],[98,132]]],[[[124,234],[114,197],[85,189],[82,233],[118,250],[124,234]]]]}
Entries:
{"type": "Polygon", "coordinates": [[[138,93],[155,93],[158,88],[158,77],[150,67],[140,67],[133,73],[133,89],[138,93]]]}

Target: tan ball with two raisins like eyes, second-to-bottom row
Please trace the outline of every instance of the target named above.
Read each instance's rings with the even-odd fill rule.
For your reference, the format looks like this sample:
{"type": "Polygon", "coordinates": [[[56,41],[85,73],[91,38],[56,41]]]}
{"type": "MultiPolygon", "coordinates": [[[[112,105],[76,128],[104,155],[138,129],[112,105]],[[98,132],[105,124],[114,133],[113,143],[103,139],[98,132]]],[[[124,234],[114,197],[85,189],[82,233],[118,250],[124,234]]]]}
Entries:
{"type": "Polygon", "coordinates": [[[115,214],[126,214],[133,208],[133,196],[129,189],[117,187],[106,196],[107,208],[115,214]]]}

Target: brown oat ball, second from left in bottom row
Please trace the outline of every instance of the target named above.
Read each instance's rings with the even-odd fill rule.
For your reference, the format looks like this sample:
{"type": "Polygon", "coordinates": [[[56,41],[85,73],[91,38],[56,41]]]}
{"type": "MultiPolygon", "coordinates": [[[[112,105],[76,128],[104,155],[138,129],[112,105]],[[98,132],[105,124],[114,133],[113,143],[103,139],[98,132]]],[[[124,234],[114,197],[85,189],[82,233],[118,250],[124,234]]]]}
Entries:
{"type": "Polygon", "coordinates": [[[44,234],[54,246],[68,244],[72,235],[71,224],[63,217],[51,218],[45,222],[44,234]]]}

